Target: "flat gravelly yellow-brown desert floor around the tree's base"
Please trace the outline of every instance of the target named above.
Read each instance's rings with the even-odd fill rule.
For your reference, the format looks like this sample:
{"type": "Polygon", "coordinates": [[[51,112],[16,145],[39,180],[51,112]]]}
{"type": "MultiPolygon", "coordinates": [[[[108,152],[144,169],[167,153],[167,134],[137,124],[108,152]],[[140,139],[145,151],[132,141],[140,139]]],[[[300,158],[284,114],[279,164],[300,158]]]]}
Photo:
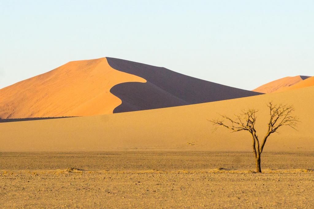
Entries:
{"type": "Polygon", "coordinates": [[[0,153],[2,208],[313,208],[314,153],[0,153]]]}

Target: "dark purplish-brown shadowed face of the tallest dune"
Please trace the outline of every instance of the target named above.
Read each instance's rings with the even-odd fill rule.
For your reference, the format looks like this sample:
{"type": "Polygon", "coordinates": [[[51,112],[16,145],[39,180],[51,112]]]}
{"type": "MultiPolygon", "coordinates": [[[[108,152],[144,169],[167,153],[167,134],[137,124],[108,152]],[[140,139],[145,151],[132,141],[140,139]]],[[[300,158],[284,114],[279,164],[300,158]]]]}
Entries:
{"type": "Polygon", "coordinates": [[[261,93],[233,88],[186,76],[164,67],[107,57],[109,65],[119,71],[140,76],[146,83],[121,83],[111,93],[122,100],[114,112],[174,107],[213,102],[261,93]]]}

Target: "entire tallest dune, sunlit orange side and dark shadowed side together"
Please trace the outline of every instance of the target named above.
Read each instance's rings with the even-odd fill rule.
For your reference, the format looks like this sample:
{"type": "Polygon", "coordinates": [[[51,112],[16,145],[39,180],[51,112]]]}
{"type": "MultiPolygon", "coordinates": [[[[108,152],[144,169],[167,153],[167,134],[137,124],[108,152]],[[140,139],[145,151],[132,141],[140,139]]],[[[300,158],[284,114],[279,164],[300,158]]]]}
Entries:
{"type": "Polygon", "coordinates": [[[91,116],[259,94],[162,67],[100,58],[68,62],[0,89],[0,118],[91,116]]]}

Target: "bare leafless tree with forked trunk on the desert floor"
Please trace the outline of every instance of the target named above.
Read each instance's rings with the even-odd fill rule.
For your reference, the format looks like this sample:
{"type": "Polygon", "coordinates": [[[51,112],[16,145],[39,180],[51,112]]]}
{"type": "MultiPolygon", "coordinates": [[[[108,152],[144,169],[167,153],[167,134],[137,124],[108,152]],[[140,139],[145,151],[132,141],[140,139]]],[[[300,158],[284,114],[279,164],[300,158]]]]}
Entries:
{"type": "MultiPolygon", "coordinates": [[[[234,119],[231,119],[225,115],[220,115],[222,119],[215,119],[215,120],[209,120],[210,122],[215,125],[215,130],[219,127],[225,127],[232,130],[232,132],[236,131],[248,131],[250,132],[252,136],[252,147],[253,147],[253,153],[255,156],[255,162],[256,162],[256,172],[261,173],[261,154],[263,152],[265,143],[267,141],[267,138],[270,134],[277,132],[278,128],[281,126],[290,126],[291,128],[295,129],[298,120],[293,115],[294,108],[293,106],[289,105],[276,105],[272,102],[269,102],[267,104],[270,110],[270,119],[268,123],[268,130],[265,134],[262,143],[260,144],[260,141],[258,139],[258,136],[256,134],[256,113],[258,110],[256,109],[248,109],[248,110],[242,110],[240,115],[235,115],[234,119]]],[[[296,130],[296,129],[295,129],[296,130]]]]}

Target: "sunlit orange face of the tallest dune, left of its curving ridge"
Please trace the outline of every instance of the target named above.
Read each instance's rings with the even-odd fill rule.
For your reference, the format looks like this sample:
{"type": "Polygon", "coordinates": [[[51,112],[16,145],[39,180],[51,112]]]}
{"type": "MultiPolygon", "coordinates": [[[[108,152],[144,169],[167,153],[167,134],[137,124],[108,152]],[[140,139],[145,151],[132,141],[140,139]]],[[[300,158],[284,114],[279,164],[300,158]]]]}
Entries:
{"type": "Polygon", "coordinates": [[[112,86],[145,79],[117,71],[106,58],[68,62],[0,90],[0,118],[86,116],[112,113],[121,100],[112,86]]]}

